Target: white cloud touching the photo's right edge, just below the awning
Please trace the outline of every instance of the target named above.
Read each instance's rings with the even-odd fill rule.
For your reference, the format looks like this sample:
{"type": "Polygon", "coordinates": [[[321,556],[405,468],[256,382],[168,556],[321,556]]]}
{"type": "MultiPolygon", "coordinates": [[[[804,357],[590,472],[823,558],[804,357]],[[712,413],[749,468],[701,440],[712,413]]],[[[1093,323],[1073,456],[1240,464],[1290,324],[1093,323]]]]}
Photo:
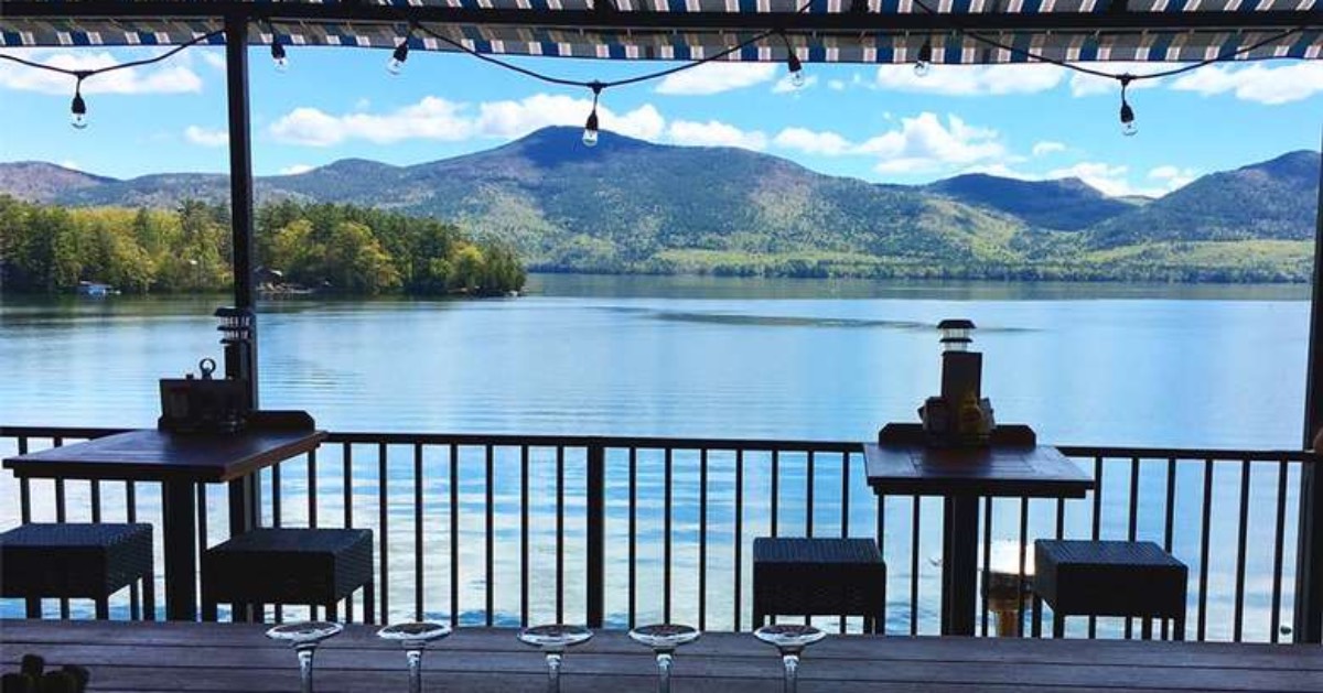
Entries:
{"type": "Polygon", "coordinates": [[[1302,61],[1281,67],[1211,65],[1187,73],[1171,89],[1205,97],[1232,93],[1237,99],[1266,104],[1290,103],[1323,94],[1323,62],[1302,61]]]}

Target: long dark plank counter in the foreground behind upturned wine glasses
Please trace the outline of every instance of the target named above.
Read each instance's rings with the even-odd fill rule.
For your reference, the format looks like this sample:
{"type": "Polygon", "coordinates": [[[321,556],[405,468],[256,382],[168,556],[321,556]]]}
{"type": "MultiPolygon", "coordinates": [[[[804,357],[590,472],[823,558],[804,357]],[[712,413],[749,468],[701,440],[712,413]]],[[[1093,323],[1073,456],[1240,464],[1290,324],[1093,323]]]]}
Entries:
{"type": "MultiPolygon", "coordinates": [[[[298,690],[288,645],[265,626],[230,623],[0,622],[0,660],[16,671],[28,652],[91,671],[93,690],[298,690]]],[[[405,656],[349,626],[318,649],[319,693],[404,690],[405,656]]],[[[541,693],[545,664],[513,630],[460,628],[423,656],[423,690],[541,693]]],[[[656,689],[651,653],[603,631],[565,656],[565,693],[656,689]]],[[[676,693],[781,690],[775,651],[749,633],[705,633],[675,660],[676,693]]],[[[1323,648],[1139,640],[830,636],[808,648],[803,693],[1023,690],[1323,692],[1323,648]]]]}

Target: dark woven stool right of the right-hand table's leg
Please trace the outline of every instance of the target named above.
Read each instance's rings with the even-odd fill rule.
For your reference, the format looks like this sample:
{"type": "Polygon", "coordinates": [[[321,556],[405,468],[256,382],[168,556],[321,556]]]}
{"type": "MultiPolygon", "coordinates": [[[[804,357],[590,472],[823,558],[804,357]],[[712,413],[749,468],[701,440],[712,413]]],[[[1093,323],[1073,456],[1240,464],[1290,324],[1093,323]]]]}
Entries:
{"type": "Polygon", "coordinates": [[[1151,541],[1033,542],[1033,632],[1043,602],[1052,606],[1052,635],[1066,616],[1132,616],[1152,637],[1150,619],[1172,619],[1172,637],[1185,639],[1185,563],[1151,541]]]}

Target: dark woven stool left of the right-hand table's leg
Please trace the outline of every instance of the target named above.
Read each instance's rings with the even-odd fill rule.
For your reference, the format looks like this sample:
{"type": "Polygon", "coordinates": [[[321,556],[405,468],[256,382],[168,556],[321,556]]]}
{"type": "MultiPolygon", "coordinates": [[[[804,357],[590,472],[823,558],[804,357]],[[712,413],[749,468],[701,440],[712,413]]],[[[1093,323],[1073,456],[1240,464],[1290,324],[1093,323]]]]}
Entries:
{"type": "Polygon", "coordinates": [[[878,632],[886,563],[873,540],[753,540],[753,626],[767,616],[864,616],[878,632]]]}

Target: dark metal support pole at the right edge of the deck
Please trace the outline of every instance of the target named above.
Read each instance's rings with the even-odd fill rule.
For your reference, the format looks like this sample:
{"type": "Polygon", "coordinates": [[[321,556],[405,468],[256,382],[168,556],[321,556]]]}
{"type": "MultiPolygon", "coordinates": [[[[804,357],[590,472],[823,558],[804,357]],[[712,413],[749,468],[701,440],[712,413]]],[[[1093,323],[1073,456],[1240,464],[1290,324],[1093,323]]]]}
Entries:
{"type": "MultiPolygon", "coordinates": [[[[1323,155],[1323,148],[1320,148],[1323,155]]],[[[1310,352],[1304,381],[1304,448],[1323,427],[1323,160],[1319,161],[1315,210],[1314,294],[1310,302],[1310,352]]],[[[1301,524],[1295,559],[1295,641],[1323,641],[1323,471],[1301,469],[1301,524]]]]}

